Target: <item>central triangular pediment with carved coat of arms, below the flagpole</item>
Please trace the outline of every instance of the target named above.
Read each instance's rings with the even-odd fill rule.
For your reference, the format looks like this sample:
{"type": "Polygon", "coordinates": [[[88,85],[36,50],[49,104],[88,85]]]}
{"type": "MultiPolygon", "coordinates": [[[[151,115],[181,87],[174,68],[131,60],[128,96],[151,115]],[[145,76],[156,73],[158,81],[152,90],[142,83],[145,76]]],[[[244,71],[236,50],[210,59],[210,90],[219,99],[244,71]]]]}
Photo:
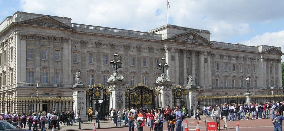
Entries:
{"type": "Polygon", "coordinates": [[[190,31],[187,33],[180,34],[178,36],[174,36],[169,38],[168,40],[172,41],[180,41],[180,42],[188,42],[188,43],[197,43],[204,45],[213,45],[210,41],[198,35],[197,33],[190,31]]]}

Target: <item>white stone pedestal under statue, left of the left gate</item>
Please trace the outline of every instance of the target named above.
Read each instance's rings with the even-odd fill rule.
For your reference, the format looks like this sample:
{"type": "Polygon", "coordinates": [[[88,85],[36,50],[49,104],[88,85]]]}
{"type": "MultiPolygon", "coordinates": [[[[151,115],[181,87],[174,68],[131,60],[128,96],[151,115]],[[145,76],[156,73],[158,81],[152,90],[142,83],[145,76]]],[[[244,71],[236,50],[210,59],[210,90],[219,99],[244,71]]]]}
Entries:
{"type": "Polygon", "coordinates": [[[73,85],[72,92],[73,92],[73,99],[75,101],[75,104],[73,105],[73,110],[77,114],[78,109],[80,109],[80,116],[81,119],[84,121],[86,120],[87,114],[86,114],[86,89],[88,87],[84,84],[75,84],[73,85]]]}

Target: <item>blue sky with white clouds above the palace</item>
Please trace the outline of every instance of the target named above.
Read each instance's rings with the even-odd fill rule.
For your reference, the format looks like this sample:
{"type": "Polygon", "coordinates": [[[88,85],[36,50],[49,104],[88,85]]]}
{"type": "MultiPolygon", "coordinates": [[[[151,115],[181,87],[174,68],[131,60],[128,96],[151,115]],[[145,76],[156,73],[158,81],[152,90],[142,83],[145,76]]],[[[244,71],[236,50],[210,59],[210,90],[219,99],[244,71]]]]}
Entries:
{"type": "Polygon", "coordinates": [[[171,25],[209,30],[211,41],[271,45],[284,52],[283,0],[168,2],[170,8],[167,0],[0,0],[0,21],[24,11],[69,17],[72,23],[148,31],[169,19],[171,25]]]}

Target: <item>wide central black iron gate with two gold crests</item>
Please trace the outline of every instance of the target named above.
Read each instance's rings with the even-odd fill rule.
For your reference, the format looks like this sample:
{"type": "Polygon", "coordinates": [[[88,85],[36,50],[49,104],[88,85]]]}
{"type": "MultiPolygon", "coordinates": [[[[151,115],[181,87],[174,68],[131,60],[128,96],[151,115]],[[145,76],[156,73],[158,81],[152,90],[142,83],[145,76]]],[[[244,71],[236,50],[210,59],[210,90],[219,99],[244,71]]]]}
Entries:
{"type": "Polygon", "coordinates": [[[126,108],[154,109],[158,107],[158,92],[154,87],[139,83],[133,87],[127,87],[125,91],[126,108]]]}

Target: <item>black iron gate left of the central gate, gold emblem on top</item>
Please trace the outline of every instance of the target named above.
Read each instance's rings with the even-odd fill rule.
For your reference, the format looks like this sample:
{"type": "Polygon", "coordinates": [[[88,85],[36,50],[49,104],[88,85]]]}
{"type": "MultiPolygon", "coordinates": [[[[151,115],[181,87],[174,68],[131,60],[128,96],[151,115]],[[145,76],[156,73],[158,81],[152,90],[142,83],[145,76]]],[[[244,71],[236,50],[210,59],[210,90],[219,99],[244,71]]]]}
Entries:
{"type": "MultiPolygon", "coordinates": [[[[110,99],[111,92],[108,92],[106,86],[101,84],[95,84],[89,86],[89,89],[86,92],[86,114],[88,115],[88,110],[90,107],[93,108],[93,111],[98,111],[98,116],[105,120],[110,112],[110,99]]],[[[93,120],[95,116],[93,115],[93,120]]]]}

